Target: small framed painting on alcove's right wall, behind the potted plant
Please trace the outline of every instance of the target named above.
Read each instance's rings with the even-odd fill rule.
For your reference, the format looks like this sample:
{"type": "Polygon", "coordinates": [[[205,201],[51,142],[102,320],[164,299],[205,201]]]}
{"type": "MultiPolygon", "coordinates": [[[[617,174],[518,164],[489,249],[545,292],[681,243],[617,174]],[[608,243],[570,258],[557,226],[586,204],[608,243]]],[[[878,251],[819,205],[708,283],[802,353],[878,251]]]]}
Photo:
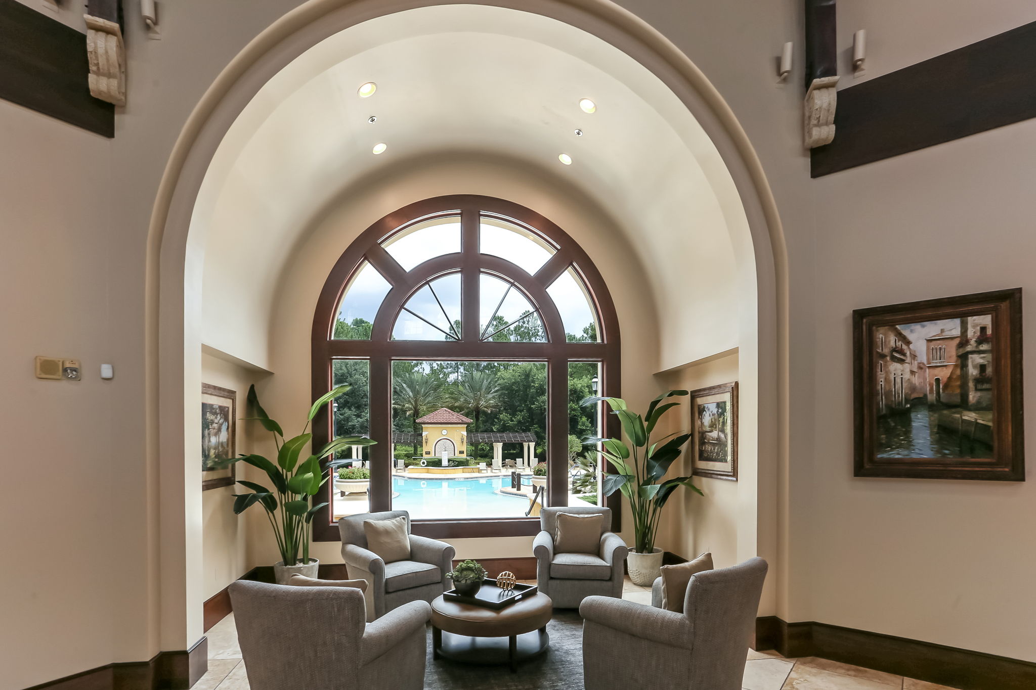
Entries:
{"type": "Polygon", "coordinates": [[[738,481],[738,382],[691,391],[691,474],[738,481]]]}

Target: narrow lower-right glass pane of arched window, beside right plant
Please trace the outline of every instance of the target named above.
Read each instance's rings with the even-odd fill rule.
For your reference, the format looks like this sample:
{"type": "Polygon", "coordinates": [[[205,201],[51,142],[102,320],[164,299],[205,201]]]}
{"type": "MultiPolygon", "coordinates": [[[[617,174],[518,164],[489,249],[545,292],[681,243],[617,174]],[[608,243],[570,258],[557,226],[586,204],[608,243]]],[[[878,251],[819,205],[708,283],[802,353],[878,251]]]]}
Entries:
{"type": "Polygon", "coordinates": [[[595,449],[587,439],[601,432],[601,403],[580,404],[600,390],[600,362],[569,362],[569,506],[602,505],[601,467],[595,449]]]}

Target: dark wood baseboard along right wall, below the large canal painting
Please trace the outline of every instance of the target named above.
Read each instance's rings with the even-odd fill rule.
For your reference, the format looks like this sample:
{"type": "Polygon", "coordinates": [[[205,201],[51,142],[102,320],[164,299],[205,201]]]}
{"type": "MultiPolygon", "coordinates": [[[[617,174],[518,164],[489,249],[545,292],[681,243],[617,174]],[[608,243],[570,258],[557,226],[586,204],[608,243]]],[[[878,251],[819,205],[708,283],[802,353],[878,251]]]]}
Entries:
{"type": "Polygon", "coordinates": [[[821,657],[961,690],[1031,690],[1036,663],[827,623],[755,621],[755,650],[821,657]]]}

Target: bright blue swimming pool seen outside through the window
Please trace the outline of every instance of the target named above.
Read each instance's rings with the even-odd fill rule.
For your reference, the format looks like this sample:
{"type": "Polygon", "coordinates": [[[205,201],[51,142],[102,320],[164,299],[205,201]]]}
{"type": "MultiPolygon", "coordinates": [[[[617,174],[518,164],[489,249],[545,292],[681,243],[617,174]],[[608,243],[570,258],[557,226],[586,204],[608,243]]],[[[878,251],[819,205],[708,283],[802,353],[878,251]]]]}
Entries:
{"type": "Polygon", "coordinates": [[[435,517],[520,517],[528,499],[498,493],[511,476],[472,479],[411,479],[393,477],[393,510],[409,511],[415,519],[435,517]]]}

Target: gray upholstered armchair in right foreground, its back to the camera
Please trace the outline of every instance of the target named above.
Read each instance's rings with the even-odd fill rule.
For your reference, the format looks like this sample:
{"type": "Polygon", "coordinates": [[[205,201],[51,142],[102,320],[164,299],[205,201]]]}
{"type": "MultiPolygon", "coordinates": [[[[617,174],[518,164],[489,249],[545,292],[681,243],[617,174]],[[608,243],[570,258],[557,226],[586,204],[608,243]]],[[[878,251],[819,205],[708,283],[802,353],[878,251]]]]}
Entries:
{"type": "Polygon", "coordinates": [[[579,607],[586,687],[740,690],[766,576],[762,559],[692,575],[683,613],[586,599],[579,607]]]}

